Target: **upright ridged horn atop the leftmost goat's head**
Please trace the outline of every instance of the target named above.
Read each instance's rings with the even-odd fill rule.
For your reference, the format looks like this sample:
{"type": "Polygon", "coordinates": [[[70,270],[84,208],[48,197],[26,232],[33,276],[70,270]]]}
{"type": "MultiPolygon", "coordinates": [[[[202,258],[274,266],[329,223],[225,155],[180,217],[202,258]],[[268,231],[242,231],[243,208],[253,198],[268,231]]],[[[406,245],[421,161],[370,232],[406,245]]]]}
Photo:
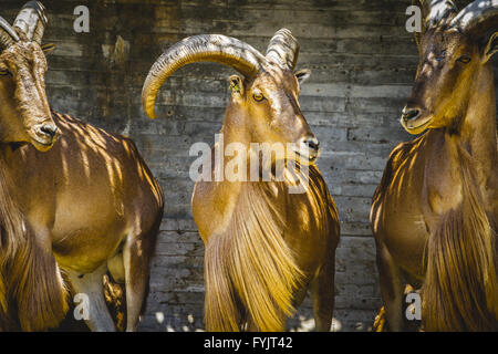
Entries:
{"type": "Polygon", "coordinates": [[[48,21],[43,4],[40,1],[30,1],[21,9],[13,25],[21,30],[28,40],[41,45],[48,21]]]}

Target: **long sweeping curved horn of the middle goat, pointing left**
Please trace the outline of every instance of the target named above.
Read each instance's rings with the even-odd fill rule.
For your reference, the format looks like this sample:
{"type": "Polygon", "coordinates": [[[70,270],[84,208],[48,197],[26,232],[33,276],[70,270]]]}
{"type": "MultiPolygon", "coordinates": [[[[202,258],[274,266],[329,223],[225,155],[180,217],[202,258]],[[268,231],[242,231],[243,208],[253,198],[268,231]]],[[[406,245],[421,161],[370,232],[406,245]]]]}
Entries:
{"type": "Polygon", "coordinates": [[[189,37],[167,49],[151,67],[142,90],[142,105],[148,117],[156,117],[154,104],[166,79],[181,66],[196,62],[225,64],[251,80],[264,66],[266,59],[249,44],[231,37],[189,37]]]}

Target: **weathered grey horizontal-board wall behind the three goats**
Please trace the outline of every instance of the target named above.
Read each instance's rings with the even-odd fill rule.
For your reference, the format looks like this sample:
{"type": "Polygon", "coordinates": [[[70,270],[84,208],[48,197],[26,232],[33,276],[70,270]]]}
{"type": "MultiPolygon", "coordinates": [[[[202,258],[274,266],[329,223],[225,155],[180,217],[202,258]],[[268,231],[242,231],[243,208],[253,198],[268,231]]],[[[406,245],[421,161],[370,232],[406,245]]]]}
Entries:
{"type": "MultiPolygon", "coordinates": [[[[141,108],[152,63],[170,44],[199,33],[236,37],[264,51],[289,28],[301,43],[298,69],[313,71],[301,106],[321,140],[318,163],[339,207],[336,331],[365,331],[381,305],[371,197],[391,149],[411,139],[398,124],[417,64],[405,31],[408,0],[45,0],[45,42],[58,45],[46,76],[50,102],[110,132],[129,135],[163,186],[166,211],[152,271],[143,331],[204,327],[204,246],[193,222],[188,168],[196,142],[212,144],[229,96],[229,69],[196,64],[176,72],[158,100],[160,118],[141,108]],[[90,33],[73,31],[73,10],[87,6],[90,33]]],[[[13,20],[22,0],[2,0],[13,20]]],[[[466,1],[458,1],[460,8],[466,1]]],[[[497,60],[495,59],[495,63],[497,60]]],[[[289,322],[310,330],[307,300],[289,322]]]]}

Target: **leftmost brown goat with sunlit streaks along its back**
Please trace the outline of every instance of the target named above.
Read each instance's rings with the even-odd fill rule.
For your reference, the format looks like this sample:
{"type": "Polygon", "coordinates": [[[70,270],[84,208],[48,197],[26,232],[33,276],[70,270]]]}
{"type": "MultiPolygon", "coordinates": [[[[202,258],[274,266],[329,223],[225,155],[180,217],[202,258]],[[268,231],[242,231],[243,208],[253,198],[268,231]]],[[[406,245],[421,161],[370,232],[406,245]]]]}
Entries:
{"type": "Polygon", "coordinates": [[[0,18],[0,330],[58,326],[68,309],[60,269],[87,296],[96,331],[115,330],[103,274],[124,281],[134,330],[163,194],[132,140],[51,112],[45,24],[37,1],[13,27],[0,18]]]}

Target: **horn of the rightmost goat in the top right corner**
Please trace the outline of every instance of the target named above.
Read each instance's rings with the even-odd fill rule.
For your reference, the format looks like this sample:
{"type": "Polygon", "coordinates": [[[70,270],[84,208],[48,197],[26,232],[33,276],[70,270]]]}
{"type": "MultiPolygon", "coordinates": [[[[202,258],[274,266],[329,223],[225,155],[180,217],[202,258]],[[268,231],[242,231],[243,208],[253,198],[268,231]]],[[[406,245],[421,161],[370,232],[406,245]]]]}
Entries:
{"type": "Polygon", "coordinates": [[[468,32],[481,25],[486,27],[486,23],[492,24],[498,30],[497,22],[494,18],[498,15],[498,0],[476,0],[464,8],[455,19],[453,19],[450,25],[459,29],[461,32],[468,32]]]}

